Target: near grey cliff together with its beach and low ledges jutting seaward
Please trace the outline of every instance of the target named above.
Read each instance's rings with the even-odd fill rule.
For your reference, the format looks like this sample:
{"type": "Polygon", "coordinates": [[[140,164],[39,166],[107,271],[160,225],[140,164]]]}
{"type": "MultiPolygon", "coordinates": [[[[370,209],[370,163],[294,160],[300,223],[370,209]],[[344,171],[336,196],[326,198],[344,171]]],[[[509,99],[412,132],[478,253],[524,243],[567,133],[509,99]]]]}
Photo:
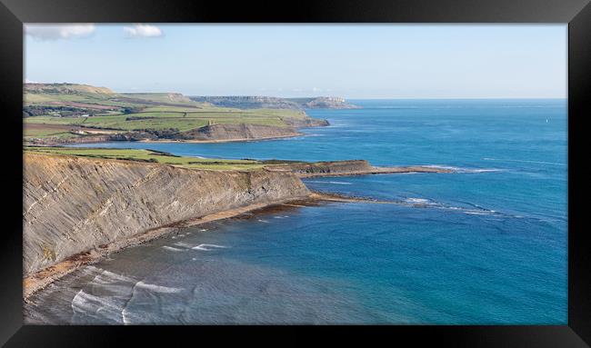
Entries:
{"type": "Polygon", "coordinates": [[[130,245],[180,227],[277,204],[371,202],[312,193],[311,176],[449,173],[363,160],[268,165],[210,171],[166,164],[25,153],[23,258],[25,299],[45,285],[130,245]]]}

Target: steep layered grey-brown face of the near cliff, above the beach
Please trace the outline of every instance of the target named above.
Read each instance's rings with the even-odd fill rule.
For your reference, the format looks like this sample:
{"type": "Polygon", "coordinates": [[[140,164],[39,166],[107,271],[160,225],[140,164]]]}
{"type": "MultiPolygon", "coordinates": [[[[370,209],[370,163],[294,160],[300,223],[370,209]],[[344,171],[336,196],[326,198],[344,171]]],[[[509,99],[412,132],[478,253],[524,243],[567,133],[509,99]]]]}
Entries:
{"type": "Polygon", "coordinates": [[[99,245],[249,204],[305,197],[291,173],[25,154],[24,275],[99,245]]]}

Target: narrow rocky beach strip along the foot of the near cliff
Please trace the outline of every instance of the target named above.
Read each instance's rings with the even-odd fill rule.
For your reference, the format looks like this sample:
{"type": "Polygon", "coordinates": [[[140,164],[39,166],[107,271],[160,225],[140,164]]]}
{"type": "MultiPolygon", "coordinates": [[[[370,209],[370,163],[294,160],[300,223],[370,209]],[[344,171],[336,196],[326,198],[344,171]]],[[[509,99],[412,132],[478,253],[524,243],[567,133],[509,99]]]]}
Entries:
{"type": "Polygon", "coordinates": [[[303,197],[293,197],[281,201],[249,204],[242,207],[229,209],[217,213],[205,214],[203,216],[185,219],[172,224],[165,224],[159,227],[149,229],[143,233],[135,234],[123,241],[113,242],[110,244],[98,245],[95,249],[85,251],[83,253],[71,255],[65,260],[55,263],[51,266],[45,267],[35,273],[26,276],[23,279],[23,300],[25,302],[38,291],[43,290],[46,286],[54,283],[65,275],[74,272],[78,268],[87,265],[98,263],[109,254],[115,254],[125,250],[128,247],[144,244],[146,242],[155,240],[157,238],[165,237],[175,232],[180,232],[180,229],[197,226],[199,224],[210,223],[218,220],[237,217],[245,213],[256,211],[264,211],[265,209],[274,206],[285,205],[285,207],[303,207],[309,204],[317,204],[320,202],[339,202],[339,203],[374,203],[387,204],[389,202],[373,201],[364,198],[346,197],[338,194],[322,194],[312,192],[303,197]]]}

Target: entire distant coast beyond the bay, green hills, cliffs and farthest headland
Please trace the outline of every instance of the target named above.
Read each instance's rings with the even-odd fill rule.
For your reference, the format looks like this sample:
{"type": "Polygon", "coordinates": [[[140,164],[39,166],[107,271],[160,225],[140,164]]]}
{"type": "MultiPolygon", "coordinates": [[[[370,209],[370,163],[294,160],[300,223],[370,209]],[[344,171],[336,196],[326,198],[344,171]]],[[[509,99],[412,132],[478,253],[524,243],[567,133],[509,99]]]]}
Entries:
{"type": "Polygon", "coordinates": [[[78,84],[25,84],[25,143],[233,142],[302,135],[328,125],[306,109],[356,108],[340,97],[116,93],[78,84]]]}

